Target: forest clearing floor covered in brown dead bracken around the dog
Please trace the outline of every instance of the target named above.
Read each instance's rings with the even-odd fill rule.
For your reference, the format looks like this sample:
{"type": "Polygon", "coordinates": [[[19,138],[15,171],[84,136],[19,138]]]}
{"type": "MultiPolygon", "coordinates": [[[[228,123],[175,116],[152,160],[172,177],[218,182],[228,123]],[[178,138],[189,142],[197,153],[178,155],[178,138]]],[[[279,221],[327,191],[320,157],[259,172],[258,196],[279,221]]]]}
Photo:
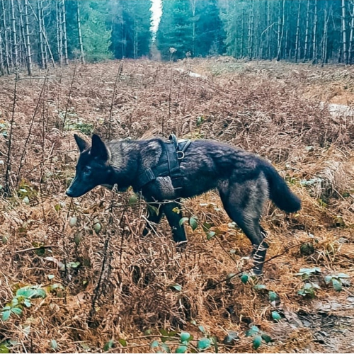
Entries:
{"type": "Polygon", "coordinates": [[[125,60],[1,77],[0,353],[354,352],[352,108],[345,66],[125,60]],[[266,207],[268,262],[248,278],[251,245],[215,192],[185,200],[199,226],[183,252],[166,221],[141,236],[131,190],[67,198],[74,132],[242,147],[302,210],[266,207]]]}

